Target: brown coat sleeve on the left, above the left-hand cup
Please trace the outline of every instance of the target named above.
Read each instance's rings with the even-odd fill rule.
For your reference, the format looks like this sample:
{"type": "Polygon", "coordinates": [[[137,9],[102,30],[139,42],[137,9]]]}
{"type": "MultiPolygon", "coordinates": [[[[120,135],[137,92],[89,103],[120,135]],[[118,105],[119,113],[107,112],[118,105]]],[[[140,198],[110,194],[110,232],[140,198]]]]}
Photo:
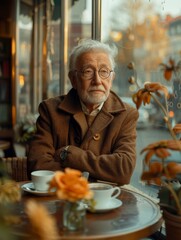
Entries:
{"type": "MultiPolygon", "coordinates": [[[[55,111],[53,107],[52,113],[55,111]]],[[[54,114],[54,113],[53,113],[54,114]]],[[[51,112],[46,102],[39,105],[39,117],[36,122],[37,132],[29,144],[27,154],[27,174],[35,170],[61,170],[60,162],[55,161],[55,134],[53,131],[51,112]]],[[[58,130],[57,130],[58,131],[58,130]]]]}

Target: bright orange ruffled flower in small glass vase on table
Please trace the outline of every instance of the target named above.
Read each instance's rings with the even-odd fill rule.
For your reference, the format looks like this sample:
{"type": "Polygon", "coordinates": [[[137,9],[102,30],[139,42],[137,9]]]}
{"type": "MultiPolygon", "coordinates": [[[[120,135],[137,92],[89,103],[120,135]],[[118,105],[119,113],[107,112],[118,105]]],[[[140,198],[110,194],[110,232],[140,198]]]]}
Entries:
{"type": "Polygon", "coordinates": [[[66,168],[65,172],[57,171],[50,181],[50,189],[56,188],[59,199],[75,202],[81,199],[91,199],[92,191],[86,178],[78,170],[66,168]]]}

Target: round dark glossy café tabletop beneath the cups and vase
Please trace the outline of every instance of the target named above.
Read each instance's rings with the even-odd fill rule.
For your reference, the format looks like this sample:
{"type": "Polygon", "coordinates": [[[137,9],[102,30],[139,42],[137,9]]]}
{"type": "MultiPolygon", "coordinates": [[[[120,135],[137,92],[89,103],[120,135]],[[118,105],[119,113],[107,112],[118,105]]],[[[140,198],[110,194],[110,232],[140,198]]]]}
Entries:
{"type": "Polygon", "coordinates": [[[60,239],[64,240],[137,240],[158,231],[163,222],[158,204],[139,193],[121,188],[119,199],[122,205],[119,208],[103,213],[87,212],[83,231],[67,231],[62,226],[63,201],[54,196],[26,193],[15,209],[23,221],[13,227],[14,234],[23,236],[23,239],[31,239],[28,237],[30,228],[24,212],[26,200],[30,198],[44,204],[49,213],[54,215],[59,226],[60,239]]]}

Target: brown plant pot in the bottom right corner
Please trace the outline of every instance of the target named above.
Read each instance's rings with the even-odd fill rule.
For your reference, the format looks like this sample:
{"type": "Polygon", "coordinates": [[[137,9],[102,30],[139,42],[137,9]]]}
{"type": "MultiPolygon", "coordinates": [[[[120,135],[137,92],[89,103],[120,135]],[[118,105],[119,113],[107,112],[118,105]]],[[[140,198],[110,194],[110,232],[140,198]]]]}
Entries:
{"type": "Polygon", "coordinates": [[[165,229],[167,240],[180,240],[181,239],[181,216],[177,216],[163,210],[163,218],[165,220],[165,229]]]}

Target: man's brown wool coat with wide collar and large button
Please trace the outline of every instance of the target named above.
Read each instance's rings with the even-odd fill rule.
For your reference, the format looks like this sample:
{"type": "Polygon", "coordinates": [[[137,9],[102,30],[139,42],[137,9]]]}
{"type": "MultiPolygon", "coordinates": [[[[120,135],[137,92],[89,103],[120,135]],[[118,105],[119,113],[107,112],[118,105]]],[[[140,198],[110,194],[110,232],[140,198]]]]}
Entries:
{"type": "Polygon", "coordinates": [[[111,91],[88,129],[72,89],[66,96],[40,103],[39,113],[37,134],[28,154],[29,177],[37,169],[61,170],[60,151],[70,145],[66,167],[88,171],[94,179],[129,183],[136,163],[135,108],[111,91]]]}

